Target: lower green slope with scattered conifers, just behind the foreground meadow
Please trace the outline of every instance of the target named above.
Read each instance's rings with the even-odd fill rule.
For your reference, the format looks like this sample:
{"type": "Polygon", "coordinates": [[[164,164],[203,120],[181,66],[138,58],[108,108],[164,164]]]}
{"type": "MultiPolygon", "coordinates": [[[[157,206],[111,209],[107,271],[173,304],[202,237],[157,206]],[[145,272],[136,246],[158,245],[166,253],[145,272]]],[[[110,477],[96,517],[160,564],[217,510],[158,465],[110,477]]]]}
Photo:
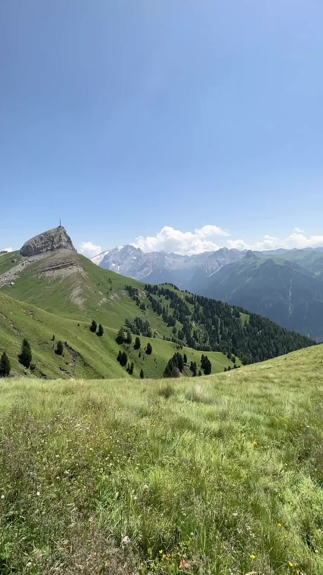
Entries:
{"type": "MultiPolygon", "coordinates": [[[[129,298],[128,298],[129,299],[129,298]]],[[[130,304],[133,302],[129,300],[130,304]]],[[[137,308],[138,309],[138,308],[137,308]]],[[[163,377],[168,360],[174,355],[174,343],[157,338],[140,336],[141,348],[134,350],[130,345],[118,345],[117,330],[103,322],[105,330],[102,338],[89,329],[90,320],[76,321],[45,312],[36,306],[13,300],[0,292],[0,350],[6,350],[11,369],[18,374],[29,373],[36,377],[84,377],[84,378],[130,378],[126,370],[116,361],[118,351],[125,350],[128,361],[134,362],[133,376],[139,377],[143,369],[145,377],[163,377]],[[55,335],[55,341],[52,336],[55,335]],[[22,339],[28,339],[32,347],[33,363],[36,369],[26,371],[18,361],[22,339]],[[67,342],[64,356],[55,354],[57,341],[67,342]],[[148,342],[152,344],[152,354],[145,354],[148,342]],[[139,357],[139,352],[141,356],[139,357]]],[[[129,313],[129,309],[128,312],[129,313]]],[[[201,365],[201,352],[183,348],[189,362],[201,365]]],[[[212,372],[223,371],[232,361],[220,352],[209,352],[212,372]]],[[[237,360],[237,365],[240,365],[237,360]]],[[[187,373],[189,371],[187,370],[187,373]]]]}

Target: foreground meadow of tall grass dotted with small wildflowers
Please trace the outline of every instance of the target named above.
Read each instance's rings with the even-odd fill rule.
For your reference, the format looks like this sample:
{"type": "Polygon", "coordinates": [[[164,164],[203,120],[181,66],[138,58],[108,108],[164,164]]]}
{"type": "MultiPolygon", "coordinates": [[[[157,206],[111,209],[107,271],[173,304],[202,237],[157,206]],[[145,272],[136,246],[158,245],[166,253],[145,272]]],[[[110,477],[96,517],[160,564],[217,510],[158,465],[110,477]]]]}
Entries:
{"type": "Polygon", "coordinates": [[[126,389],[3,380],[1,573],[321,575],[322,385],[322,346],[126,389]]]}

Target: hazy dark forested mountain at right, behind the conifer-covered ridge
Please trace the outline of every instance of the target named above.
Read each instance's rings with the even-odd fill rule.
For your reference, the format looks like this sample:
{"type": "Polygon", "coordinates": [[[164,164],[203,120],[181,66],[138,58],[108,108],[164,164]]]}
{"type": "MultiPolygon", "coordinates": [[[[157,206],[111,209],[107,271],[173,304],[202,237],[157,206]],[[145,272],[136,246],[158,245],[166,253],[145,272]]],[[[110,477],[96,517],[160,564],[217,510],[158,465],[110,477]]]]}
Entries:
{"type": "Polygon", "coordinates": [[[323,274],[316,276],[295,262],[250,253],[218,271],[199,292],[323,340],[323,274]]]}

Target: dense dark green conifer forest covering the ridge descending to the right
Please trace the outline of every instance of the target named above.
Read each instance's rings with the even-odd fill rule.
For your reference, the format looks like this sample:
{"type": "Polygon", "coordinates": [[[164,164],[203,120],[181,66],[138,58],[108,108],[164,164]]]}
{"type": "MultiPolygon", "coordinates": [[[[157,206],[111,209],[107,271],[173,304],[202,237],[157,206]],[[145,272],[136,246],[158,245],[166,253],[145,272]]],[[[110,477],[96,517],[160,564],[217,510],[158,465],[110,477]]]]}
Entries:
{"type": "Polygon", "coordinates": [[[256,313],[248,314],[238,306],[190,292],[182,295],[165,285],[145,285],[145,290],[152,309],[163,317],[168,327],[173,326],[172,342],[198,351],[220,351],[228,359],[234,358],[233,363],[236,356],[247,365],[316,344],[300,333],[280,327],[256,313]],[[163,296],[166,306],[161,306],[154,296],[163,296]],[[247,317],[241,321],[241,313],[245,313],[249,321],[247,317]],[[176,321],[182,324],[179,331],[176,321]]]}

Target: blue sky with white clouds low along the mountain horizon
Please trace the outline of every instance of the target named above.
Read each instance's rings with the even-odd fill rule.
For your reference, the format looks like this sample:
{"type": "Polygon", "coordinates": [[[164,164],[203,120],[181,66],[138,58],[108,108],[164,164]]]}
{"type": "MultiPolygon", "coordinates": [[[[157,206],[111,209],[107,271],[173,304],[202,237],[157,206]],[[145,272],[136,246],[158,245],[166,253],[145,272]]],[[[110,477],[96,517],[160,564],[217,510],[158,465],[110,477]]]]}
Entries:
{"type": "Polygon", "coordinates": [[[0,54],[0,249],[323,245],[321,0],[2,0],[0,54]]]}

